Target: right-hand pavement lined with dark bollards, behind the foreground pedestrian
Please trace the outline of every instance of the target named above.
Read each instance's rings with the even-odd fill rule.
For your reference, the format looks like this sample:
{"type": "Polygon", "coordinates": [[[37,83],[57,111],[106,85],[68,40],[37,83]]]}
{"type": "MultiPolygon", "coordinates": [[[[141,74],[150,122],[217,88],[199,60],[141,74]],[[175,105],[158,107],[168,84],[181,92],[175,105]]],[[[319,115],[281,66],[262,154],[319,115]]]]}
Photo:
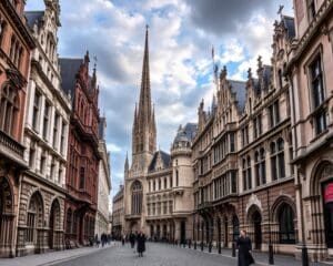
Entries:
{"type": "MultiPolygon", "coordinates": [[[[180,246],[174,246],[174,247],[175,248],[184,248],[184,247],[180,247],[180,246]]],[[[188,246],[185,248],[189,249],[188,246]]],[[[196,250],[194,249],[193,245],[191,246],[191,249],[193,252],[202,253],[200,249],[200,245],[196,246],[196,250]]],[[[210,254],[208,247],[203,248],[203,253],[210,254]]],[[[222,256],[222,257],[232,257],[231,248],[222,248],[221,254],[219,254],[219,249],[216,247],[213,247],[211,254],[215,255],[215,256],[222,256]]],[[[269,254],[268,253],[252,252],[252,255],[254,257],[255,265],[262,265],[262,266],[269,265],[269,254]]],[[[236,259],[236,257],[234,259],[236,259]]],[[[293,256],[274,254],[274,265],[275,266],[301,266],[302,262],[296,260],[293,256]]],[[[330,265],[333,266],[333,262],[310,263],[310,266],[330,266],[330,265]]]]}

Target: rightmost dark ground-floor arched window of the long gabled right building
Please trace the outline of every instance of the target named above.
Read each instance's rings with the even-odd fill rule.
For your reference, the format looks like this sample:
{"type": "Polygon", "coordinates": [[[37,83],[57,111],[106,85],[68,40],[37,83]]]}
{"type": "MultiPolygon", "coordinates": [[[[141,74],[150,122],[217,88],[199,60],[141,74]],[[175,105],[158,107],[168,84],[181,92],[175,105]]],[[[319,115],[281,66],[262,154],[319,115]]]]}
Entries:
{"type": "Polygon", "coordinates": [[[295,244],[294,213],[286,203],[279,211],[279,232],[281,244],[295,244]]]}

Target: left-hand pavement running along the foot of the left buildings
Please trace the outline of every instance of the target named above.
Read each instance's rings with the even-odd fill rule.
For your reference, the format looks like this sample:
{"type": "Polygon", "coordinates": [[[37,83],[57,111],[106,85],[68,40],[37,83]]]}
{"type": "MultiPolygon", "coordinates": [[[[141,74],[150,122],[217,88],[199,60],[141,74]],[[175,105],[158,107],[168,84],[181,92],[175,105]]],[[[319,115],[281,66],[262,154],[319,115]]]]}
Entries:
{"type": "Polygon", "coordinates": [[[24,257],[0,258],[0,266],[49,266],[54,263],[61,263],[75,257],[82,257],[89,254],[98,253],[105,248],[111,248],[112,246],[114,246],[114,243],[111,243],[110,246],[107,245],[104,247],[81,247],[60,252],[34,254],[24,257]]]}

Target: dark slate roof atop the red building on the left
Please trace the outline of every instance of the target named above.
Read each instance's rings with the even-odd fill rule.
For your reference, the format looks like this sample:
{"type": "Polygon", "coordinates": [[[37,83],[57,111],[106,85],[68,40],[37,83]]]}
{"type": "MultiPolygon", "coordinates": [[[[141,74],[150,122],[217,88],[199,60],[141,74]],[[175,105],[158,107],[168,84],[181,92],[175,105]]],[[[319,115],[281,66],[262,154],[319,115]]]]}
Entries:
{"type": "Polygon", "coordinates": [[[60,73],[61,73],[61,88],[68,94],[74,95],[77,73],[82,64],[82,59],[59,59],[60,73]]]}

